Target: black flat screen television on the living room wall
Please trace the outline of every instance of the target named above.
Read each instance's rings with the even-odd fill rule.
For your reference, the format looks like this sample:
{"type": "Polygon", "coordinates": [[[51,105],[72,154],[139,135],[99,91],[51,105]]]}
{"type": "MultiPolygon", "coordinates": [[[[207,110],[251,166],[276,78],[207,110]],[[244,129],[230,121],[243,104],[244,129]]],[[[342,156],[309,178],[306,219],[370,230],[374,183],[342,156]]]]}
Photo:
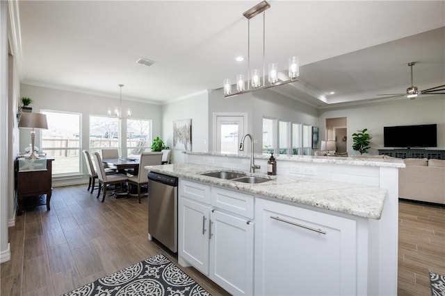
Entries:
{"type": "Polygon", "coordinates": [[[385,147],[437,147],[437,124],[385,126],[385,147]]]}

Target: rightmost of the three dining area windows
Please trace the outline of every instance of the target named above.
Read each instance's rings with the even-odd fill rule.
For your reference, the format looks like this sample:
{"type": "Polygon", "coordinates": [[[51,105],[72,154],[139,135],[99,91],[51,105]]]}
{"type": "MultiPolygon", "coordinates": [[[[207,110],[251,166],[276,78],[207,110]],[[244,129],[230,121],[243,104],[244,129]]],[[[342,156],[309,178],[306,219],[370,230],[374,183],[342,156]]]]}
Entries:
{"type": "Polygon", "coordinates": [[[127,119],[127,156],[139,156],[152,146],[152,121],[127,119]]]}

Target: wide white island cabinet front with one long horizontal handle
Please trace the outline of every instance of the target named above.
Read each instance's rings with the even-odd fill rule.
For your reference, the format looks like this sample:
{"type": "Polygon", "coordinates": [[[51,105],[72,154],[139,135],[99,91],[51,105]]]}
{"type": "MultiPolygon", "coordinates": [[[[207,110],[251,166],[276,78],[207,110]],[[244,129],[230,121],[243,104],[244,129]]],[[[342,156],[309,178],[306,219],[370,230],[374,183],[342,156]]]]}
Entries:
{"type": "Polygon", "coordinates": [[[255,202],[255,295],[357,294],[355,220],[255,202]]]}

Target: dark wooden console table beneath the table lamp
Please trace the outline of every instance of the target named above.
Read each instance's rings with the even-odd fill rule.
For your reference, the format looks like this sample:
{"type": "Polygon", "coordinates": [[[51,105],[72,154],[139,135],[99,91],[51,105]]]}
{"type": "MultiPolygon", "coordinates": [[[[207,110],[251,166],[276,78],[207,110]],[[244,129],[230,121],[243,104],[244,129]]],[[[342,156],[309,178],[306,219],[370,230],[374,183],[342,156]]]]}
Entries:
{"type": "Polygon", "coordinates": [[[51,164],[54,158],[47,158],[46,160],[46,171],[19,171],[19,159],[15,160],[15,194],[17,194],[17,202],[19,204],[17,215],[22,215],[24,198],[42,194],[47,195],[47,211],[51,209],[49,206],[52,191],[51,164]]]}

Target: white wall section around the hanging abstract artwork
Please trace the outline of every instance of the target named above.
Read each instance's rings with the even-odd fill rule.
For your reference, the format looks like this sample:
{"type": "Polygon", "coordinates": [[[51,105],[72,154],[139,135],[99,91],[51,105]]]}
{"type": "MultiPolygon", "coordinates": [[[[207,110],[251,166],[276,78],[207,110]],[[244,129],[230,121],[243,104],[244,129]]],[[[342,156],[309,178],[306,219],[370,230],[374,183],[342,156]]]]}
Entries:
{"type": "MultiPolygon", "coordinates": [[[[159,137],[172,149],[172,163],[184,162],[184,153],[173,149],[173,121],[192,119],[192,151],[209,152],[209,92],[204,91],[162,107],[163,132],[159,137]]],[[[156,137],[156,134],[154,134],[156,137]]]]}

